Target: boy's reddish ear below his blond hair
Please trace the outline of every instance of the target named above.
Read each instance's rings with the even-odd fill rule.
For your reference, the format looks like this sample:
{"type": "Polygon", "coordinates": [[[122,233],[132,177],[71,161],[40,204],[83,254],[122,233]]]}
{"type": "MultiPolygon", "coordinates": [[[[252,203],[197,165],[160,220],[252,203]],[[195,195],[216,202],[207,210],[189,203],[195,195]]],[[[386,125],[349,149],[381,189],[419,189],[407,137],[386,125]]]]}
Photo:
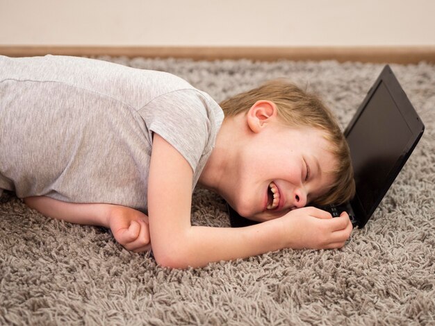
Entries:
{"type": "Polygon", "coordinates": [[[256,101],[247,112],[247,124],[253,132],[260,132],[277,117],[277,105],[271,101],[256,101]]]}

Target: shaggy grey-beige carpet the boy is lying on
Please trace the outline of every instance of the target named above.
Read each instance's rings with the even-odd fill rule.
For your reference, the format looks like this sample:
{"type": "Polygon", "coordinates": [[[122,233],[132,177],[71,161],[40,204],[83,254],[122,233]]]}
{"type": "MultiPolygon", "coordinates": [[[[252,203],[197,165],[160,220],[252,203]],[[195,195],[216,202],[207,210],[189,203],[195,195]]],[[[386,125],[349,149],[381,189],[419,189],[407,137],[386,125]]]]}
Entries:
{"type": "MultiPolygon", "coordinates": [[[[102,58],[170,71],[221,101],[286,77],[344,128],[383,65],[102,58]]],[[[342,250],[280,250],[186,271],[124,250],[104,228],[54,221],[0,198],[0,325],[435,325],[435,66],[392,65],[425,123],[372,219],[342,250]]],[[[192,223],[228,226],[195,191],[192,223]]]]}

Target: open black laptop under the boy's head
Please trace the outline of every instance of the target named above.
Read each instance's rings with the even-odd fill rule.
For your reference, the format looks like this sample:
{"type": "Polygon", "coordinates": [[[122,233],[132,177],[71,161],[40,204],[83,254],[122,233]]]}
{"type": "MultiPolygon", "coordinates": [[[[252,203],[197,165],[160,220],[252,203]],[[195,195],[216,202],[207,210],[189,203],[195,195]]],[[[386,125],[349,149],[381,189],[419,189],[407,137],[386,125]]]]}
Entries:
{"type": "MultiPolygon", "coordinates": [[[[418,144],[425,126],[386,65],[344,131],[350,147],[356,194],[343,205],[319,207],[363,228],[418,144]]],[[[231,226],[256,224],[228,205],[231,226]]]]}

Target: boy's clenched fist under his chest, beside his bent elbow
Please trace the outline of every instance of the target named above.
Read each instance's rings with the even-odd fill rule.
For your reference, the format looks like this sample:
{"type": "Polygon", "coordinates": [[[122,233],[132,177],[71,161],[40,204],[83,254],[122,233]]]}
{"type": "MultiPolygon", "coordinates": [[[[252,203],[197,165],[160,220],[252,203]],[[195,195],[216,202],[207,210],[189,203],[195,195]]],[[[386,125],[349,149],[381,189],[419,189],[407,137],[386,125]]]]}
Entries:
{"type": "Polygon", "coordinates": [[[127,250],[144,252],[151,249],[148,216],[136,209],[110,205],[108,226],[113,237],[127,250]]]}

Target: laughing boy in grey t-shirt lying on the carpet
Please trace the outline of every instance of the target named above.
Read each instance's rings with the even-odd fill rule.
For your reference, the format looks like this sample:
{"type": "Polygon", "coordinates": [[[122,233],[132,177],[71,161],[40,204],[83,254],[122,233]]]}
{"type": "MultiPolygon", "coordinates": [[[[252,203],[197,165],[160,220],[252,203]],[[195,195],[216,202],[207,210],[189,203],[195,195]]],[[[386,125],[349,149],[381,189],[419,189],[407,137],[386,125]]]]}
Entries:
{"type": "Polygon", "coordinates": [[[152,243],[174,268],[350,237],[345,213],[301,208],[343,202],[354,185],[331,114],[293,85],[234,96],[224,119],[208,94],[163,72],[51,55],[0,57],[0,71],[0,189],[42,214],[110,228],[136,252],[152,243]],[[264,223],[190,225],[197,182],[264,223]]]}

